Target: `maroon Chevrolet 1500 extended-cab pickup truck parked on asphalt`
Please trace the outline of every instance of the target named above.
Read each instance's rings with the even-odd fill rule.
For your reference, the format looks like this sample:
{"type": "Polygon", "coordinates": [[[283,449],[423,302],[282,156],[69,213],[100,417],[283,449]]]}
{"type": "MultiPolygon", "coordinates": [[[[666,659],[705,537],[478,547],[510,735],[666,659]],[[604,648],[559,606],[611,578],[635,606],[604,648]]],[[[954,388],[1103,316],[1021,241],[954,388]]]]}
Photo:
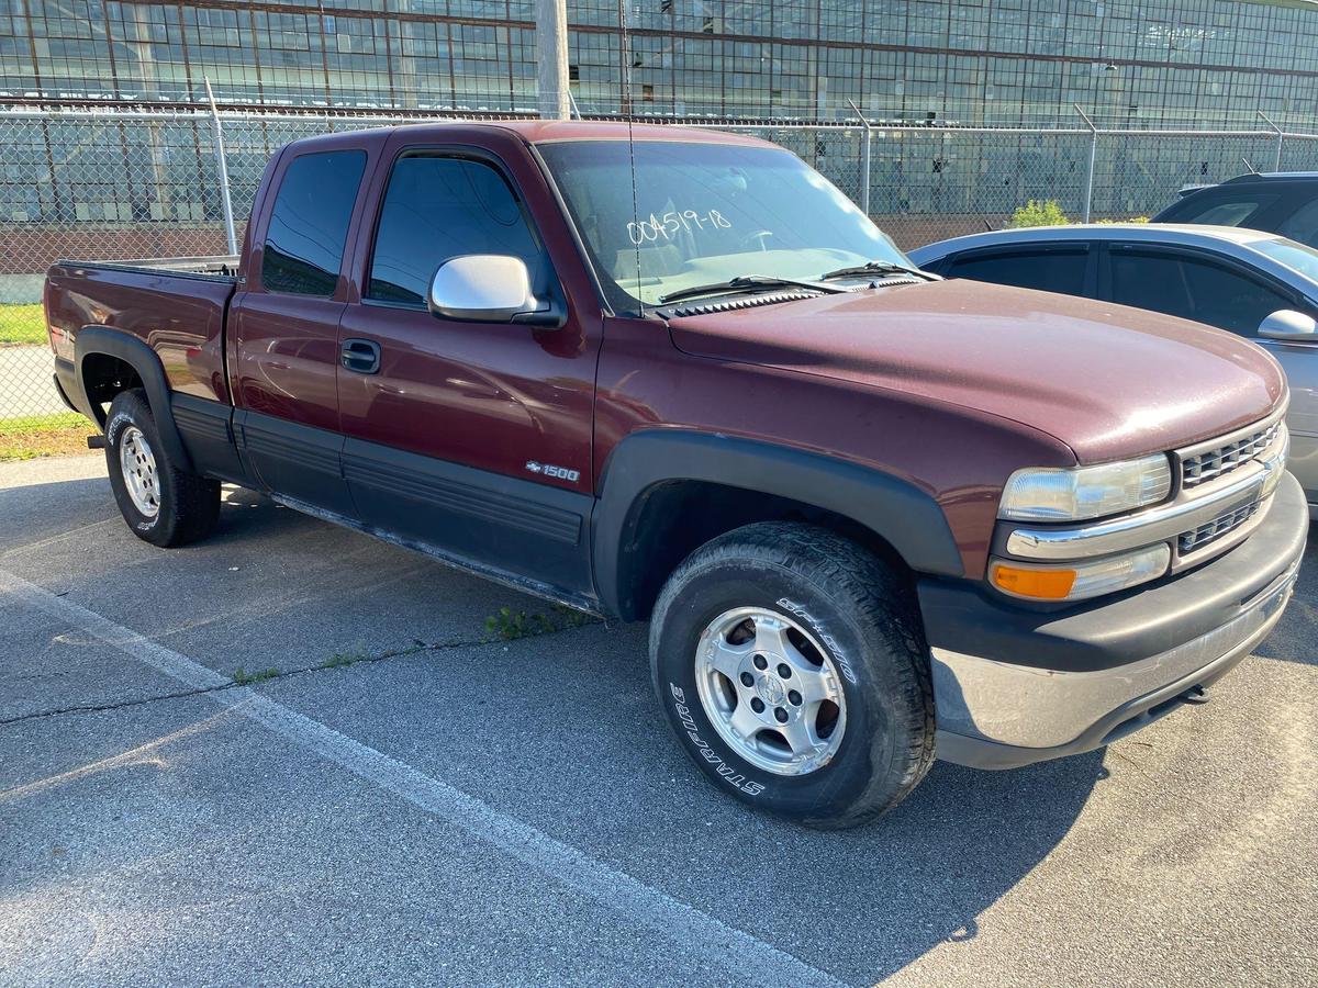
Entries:
{"type": "Polygon", "coordinates": [[[1199,701],[1309,530],[1261,349],[942,281],[709,130],[298,141],[232,274],[61,262],[45,303],[140,537],[229,482],[648,619],[688,755],[820,826],[1199,701]]]}

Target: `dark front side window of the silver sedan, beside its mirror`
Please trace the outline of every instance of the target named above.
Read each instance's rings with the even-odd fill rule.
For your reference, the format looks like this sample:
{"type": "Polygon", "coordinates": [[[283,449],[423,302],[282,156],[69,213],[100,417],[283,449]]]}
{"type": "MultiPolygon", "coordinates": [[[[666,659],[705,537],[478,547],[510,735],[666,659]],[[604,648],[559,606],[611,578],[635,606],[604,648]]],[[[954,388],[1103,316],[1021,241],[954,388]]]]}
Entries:
{"type": "Polygon", "coordinates": [[[1267,285],[1193,257],[1112,250],[1112,302],[1253,336],[1264,316],[1294,303],[1267,285]]]}

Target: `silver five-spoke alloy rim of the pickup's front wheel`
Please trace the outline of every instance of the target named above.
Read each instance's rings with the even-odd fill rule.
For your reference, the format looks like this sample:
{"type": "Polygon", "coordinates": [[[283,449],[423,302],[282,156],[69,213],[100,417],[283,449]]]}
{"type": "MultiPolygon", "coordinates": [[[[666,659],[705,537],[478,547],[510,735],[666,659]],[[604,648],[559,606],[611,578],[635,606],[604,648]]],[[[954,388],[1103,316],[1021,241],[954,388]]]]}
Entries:
{"type": "Polygon", "coordinates": [[[782,614],[737,607],[714,618],[696,647],[696,689],[724,742],[766,772],[815,772],[842,742],[846,697],[833,660],[782,614]]]}

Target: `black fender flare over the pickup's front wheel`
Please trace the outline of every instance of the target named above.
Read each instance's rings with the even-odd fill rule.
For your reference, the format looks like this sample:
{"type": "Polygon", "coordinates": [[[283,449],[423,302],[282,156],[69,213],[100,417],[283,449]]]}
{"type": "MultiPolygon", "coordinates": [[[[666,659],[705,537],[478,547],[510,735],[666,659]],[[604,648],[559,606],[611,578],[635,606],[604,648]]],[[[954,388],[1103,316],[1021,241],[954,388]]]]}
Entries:
{"type": "Polygon", "coordinates": [[[634,537],[647,491],[673,481],[721,483],[824,508],[884,539],[916,573],[965,576],[942,508],[907,480],[776,443],[646,429],[626,436],[609,454],[590,519],[596,591],[605,613],[626,610],[619,588],[622,553],[634,537]]]}

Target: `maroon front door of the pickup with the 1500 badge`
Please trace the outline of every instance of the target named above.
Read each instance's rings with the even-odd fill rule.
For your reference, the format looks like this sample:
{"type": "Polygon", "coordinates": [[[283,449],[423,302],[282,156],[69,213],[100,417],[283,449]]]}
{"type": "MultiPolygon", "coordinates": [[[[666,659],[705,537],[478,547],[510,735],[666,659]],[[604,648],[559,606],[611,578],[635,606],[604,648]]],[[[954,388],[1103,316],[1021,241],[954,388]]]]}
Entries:
{"type": "Polygon", "coordinates": [[[521,580],[590,591],[587,523],[598,325],[567,304],[506,166],[477,149],[391,159],[358,246],[360,303],[340,323],[344,474],[362,519],[521,580]],[[556,328],[439,319],[435,270],[521,258],[556,328]]]}

